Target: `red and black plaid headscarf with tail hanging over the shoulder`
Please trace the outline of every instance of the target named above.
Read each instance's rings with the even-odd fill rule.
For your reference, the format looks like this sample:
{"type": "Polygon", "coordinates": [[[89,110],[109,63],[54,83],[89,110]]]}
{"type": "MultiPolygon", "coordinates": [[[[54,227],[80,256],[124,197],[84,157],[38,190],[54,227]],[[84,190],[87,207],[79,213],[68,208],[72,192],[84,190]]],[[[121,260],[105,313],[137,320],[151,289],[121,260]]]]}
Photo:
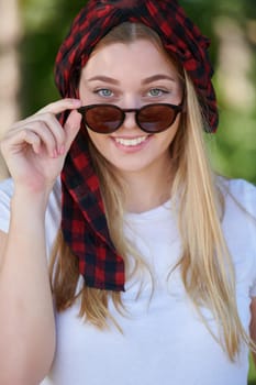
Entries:
{"type": "MultiPolygon", "coordinates": [[[[55,81],[62,97],[74,97],[78,79],[96,44],[123,22],[143,23],[162,38],[164,47],[190,75],[199,99],[204,102],[208,132],[218,127],[218,109],[212,87],[212,67],[204,37],[176,0],[89,0],[76,16],[59,48],[55,81]]],[[[80,130],[62,172],[64,239],[79,258],[85,284],[108,290],[124,289],[124,263],[111,241],[98,177],[88,151],[86,130],[80,130]]],[[[114,218],[113,218],[114,220],[114,218]]]]}

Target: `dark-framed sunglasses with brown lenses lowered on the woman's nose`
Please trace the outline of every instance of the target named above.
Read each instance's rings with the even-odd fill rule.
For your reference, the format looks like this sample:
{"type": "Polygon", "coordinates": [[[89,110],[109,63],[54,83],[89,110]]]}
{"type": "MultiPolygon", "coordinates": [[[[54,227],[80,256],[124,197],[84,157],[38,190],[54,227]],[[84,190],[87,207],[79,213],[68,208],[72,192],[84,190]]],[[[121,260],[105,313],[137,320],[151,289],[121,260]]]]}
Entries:
{"type": "Polygon", "coordinates": [[[183,102],[178,106],[154,103],[140,109],[122,109],[113,105],[90,105],[77,109],[84,123],[100,134],[116,131],[124,122],[127,112],[135,112],[135,121],[141,130],[147,133],[158,133],[174,124],[176,117],[183,110],[183,102]]]}

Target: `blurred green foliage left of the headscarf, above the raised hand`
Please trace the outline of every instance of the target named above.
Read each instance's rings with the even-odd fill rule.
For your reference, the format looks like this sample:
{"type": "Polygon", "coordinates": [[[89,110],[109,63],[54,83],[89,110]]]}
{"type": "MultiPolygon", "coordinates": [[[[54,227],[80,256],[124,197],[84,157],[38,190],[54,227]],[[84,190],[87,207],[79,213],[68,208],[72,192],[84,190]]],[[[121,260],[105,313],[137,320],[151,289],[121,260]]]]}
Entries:
{"type": "Polygon", "coordinates": [[[59,98],[54,85],[54,62],[70,21],[85,1],[20,0],[24,34],[20,44],[23,114],[59,98]]]}

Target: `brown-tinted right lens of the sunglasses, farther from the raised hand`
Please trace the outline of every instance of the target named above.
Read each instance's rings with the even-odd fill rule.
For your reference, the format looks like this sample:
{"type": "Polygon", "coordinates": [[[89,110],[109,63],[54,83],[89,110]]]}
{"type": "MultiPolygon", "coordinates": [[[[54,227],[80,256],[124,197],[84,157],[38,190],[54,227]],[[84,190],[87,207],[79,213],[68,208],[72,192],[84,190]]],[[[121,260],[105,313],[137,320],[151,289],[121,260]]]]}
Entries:
{"type": "Polygon", "coordinates": [[[176,111],[170,106],[154,105],[143,108],[137,120],[143,130],[154,133],[168,129],[175,116],[176,111]]]}

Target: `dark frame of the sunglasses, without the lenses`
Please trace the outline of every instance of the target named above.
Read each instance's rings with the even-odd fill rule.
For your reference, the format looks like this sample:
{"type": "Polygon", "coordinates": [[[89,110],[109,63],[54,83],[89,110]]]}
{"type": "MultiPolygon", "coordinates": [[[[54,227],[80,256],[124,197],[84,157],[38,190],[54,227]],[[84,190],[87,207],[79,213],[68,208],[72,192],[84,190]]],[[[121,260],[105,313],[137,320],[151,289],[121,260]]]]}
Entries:
{"type": "Polygon", "coordinates": [[[86,124],[86,127],[88,127],[91,131],[93,132],[97,132],[97,133],[100,133],[100,134],[110,134],[112,132],[115,132],[118,131],[121,125],[123,124],[125,118],[126,118],[126,113],[129,112],[135,112],[135,121],[136,121],[136,124],[140,127],[140,129],[144,132],[147,132],[147,133],[151,133],[151,134],[154,134],[154,133],[159,133],[159,132],[163,132],[163,131],[166,131],[168,128],[170,128],[175,121],[176,121],[176,118],[178,116],[179,112],[182,112],[183,111],[183,99],[182,101],[180,102],[180,105],[170,105],[170,103],[151,103],[151,105],[145,105],[141,108],[127,108],[127,109],[122,109],[121,107],[119,106],[115,106],[115,105],[110,105],[110,103],[98,103],[98,105],[88,105],[88,106],[82,106],[82,107],[79,107],[77,109],[77,111],[82,116],[82,120],[86,124]],[[151,108],[151,107],[156,107],[156,106],[163,106],[163,107],[168,107],[169,109],[171,109],[174,111],[174,118],[172,118],[172,121],[163,130],[159,130],[159,131],[147,131],[145,130],[145,128],[143,128],[138,121],[138,116],[140,113],[144,110],[144,109],[147,109],[147,108],[151,108]],[[108,132],[100,132],[100,131],[97,131],[94,128],[92,128],[90,124],[88,124],[87,122],[87,119],[86,119],[86,112],[93,109],[93,108],[99,108],[99,107],[112,107],[113,109],[116,109],[119,112],[122,113],[122,119],[120,120],[120,124],[114,129],[114,130],[111,130],[111,131],[108,131],[108,132]]]}

